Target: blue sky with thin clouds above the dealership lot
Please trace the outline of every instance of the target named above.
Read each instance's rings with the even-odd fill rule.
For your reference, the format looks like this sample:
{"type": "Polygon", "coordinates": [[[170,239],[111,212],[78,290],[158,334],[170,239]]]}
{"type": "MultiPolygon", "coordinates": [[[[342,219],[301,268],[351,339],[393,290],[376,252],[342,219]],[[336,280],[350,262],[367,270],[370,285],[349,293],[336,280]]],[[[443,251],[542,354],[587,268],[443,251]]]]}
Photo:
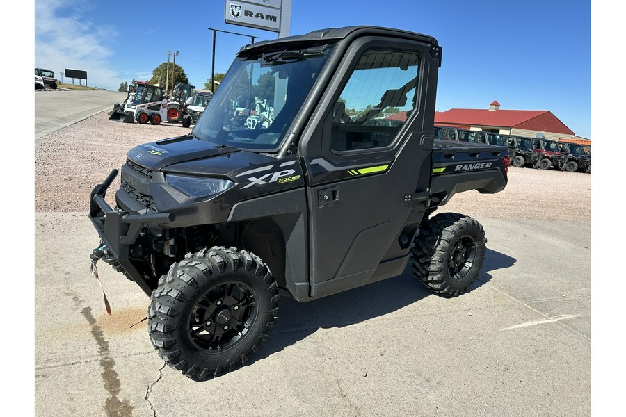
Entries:
{"type": "MultiPolygon", "coordinates": [[[[86,70],[88,83],[117,90],[176,63],[198,87],[211,76],[212,31],[277,34],[226,24],[224,0],[36,0],[35,65],[86,70]],[[175,6],[174,12],[168,7],[175,6]]],[[[352,25],[391,26],[437,38],[443,63],[437,108],[549,110],[591,137],[591,3],[579,0],[294,0],[290,34],[352,25]]],[[[218,33],[216,72],[250,38],[218,33]]]]}

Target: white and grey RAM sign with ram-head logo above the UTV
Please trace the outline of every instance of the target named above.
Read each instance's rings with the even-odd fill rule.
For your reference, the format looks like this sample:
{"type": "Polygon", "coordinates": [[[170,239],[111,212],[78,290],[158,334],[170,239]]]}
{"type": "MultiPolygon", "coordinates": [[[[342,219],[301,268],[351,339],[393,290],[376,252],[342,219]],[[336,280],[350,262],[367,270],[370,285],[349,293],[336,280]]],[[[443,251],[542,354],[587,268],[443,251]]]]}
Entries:
{"type": "Polygon", "coordinates": [[[226,23],[280,32],[280,0],[226,1],[226,23]]]}

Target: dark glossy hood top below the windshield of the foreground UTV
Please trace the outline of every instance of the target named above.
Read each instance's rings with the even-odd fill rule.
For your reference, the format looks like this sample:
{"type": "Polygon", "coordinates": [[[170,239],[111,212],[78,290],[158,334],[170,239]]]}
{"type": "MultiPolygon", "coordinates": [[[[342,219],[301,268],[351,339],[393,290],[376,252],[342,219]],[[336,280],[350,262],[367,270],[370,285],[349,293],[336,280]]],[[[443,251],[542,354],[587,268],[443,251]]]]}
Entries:
{"type": "Polygon", "coordinates": [[[151,170],[162,170],[168,165],[240,152],[235,147],[216,145],[193,136],[180,136],[138,145],[126,156],[151,170]]]}

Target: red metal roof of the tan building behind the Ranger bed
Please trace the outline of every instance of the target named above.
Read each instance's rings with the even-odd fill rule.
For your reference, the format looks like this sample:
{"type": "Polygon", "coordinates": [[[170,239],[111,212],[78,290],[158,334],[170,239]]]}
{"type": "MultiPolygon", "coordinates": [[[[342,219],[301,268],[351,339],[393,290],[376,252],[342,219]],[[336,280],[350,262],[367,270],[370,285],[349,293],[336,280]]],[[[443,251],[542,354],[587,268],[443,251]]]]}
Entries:
{"type": "Polygon", "coordinates": [[[547,110],[451,108],[449,111],[435,112],[435,124],[438,123],[516,127],[517,129],[574,134],[568,126],[547,110]]]}

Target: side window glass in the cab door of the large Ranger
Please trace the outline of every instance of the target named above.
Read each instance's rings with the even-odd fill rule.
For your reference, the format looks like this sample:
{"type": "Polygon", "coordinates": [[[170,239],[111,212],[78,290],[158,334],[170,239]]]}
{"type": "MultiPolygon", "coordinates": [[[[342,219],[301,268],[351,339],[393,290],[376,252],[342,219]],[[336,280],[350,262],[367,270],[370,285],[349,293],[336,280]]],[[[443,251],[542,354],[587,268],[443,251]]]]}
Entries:
{"type": "Polygon", "coordinates": [[[391,145],[415,110],[418,74],[419,56],[415,53],[366,51],[333,109],[331,149],[391,145]]]}

